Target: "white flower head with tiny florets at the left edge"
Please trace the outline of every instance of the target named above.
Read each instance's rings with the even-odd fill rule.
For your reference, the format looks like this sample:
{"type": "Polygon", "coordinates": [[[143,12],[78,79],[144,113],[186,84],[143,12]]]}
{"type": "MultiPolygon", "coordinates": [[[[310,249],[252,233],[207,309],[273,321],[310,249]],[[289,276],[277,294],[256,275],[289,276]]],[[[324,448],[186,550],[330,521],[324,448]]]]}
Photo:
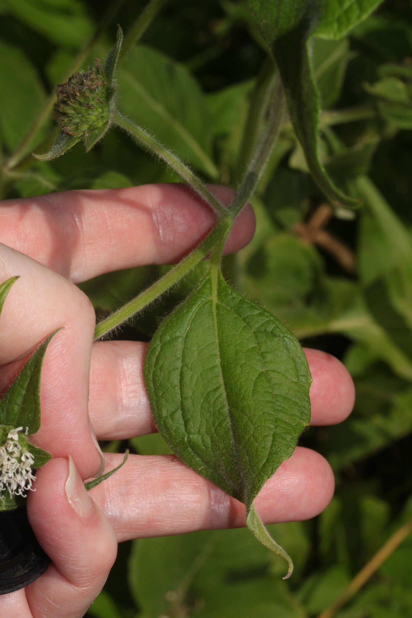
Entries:
{"type": "Polygon", "coordinates": [[[0,446],[0,497],[6,490],[10,497],[25,497],[29,489],[35,491],[32,488],[36,478],[32,474],[35,458],[18,442],[22,431],[22,427],[9,431],[6,442],[0,446]]]}

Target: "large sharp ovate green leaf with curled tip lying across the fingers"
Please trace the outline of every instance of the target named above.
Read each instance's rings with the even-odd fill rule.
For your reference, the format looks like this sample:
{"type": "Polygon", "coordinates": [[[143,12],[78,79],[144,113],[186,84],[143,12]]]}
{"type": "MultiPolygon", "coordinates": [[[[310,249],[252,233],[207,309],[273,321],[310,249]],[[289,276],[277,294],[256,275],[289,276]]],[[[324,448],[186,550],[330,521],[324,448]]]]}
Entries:
{"type": "Polygon", "coordinates": [[[310,418],[297,339],[211,269],[161,324],[144,372],[159,433],[188,467],[245,502],[261,533],[252,502],[310,418]]]}

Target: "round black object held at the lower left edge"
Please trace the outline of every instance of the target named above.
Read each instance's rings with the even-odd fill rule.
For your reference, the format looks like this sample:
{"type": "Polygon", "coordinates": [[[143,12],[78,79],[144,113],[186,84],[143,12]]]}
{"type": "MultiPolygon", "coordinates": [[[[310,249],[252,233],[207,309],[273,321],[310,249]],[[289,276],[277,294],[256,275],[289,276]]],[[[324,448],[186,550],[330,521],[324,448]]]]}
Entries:
{"type": "Polygon", "coordinates": [[[0,595],[24,588],[50,564],[24,507],[0,512],[0,595]]]}

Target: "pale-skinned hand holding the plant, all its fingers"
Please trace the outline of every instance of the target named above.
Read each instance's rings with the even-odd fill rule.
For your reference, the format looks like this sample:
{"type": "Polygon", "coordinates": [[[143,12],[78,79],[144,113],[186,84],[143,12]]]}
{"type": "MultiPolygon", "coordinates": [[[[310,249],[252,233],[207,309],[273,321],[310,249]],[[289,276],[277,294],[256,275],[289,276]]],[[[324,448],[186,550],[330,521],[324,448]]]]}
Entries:
{"type": "MultiPolygon", "coordinates": [[[[211,189],[230,200],[229,189],[211,189]]],[[[81,480],[101,468],[89,418],[98,439],[155,428],[142,376],[147,344],[93,343],[95,314],[74,284],[117,269],[178,261],[213,221],[208,206],[184,185],[80,190],[0,203],[0,281],[20,275],[1,314],[1,391],[36,345],[64,326],[44,358],[41,428],[32,436],[54,459],[38,470],[27,502],[33,530],[53,562],[23,590],[0,596],[4,618],[82,617],[104,585],[118,541],[245,525],[243,504],[174,455],[130,455],[122,470],[90,493],[81,480]]],[[[246,245],[253,232],[248,207],[225,252],[246,245]]],[[[305,353],[313,376],[311,425],[340,423],[353,407],[351,378],[334,357],[305,353]]],[[[107,454],[106,471],[122,457],[107,454]]],[[[333,492],[326,460],[297,447],[264,485],[256,508],[266,523],[308,519],[333,492]]]]}

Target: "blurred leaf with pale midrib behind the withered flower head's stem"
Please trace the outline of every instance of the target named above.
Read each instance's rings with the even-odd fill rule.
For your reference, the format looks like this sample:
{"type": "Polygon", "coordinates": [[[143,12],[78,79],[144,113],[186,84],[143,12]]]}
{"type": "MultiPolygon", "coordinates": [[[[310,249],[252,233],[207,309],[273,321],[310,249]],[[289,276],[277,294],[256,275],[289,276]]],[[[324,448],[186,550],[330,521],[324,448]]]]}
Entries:
{"type": "Polygon", "coordinates": [[[198,83],[179,62],[137,45],[122,61],[120,111],[211,178],[212,116],[198,83]]]}

